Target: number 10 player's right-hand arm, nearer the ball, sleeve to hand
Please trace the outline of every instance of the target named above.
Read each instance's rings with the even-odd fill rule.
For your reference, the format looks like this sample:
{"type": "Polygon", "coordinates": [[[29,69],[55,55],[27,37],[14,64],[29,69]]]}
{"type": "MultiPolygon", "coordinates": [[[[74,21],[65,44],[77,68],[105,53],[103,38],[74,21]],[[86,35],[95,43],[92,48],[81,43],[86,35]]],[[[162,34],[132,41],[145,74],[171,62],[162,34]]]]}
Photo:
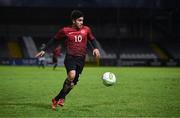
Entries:
{"type": "Polygon", "coordinates": [[[97,46],[96,38],[93,36],[91,29],[88,29],[88,39],[90,40],[91,45],[93,46],[93,55],[99,59],[100,58],[100,51],[97,46]]]}

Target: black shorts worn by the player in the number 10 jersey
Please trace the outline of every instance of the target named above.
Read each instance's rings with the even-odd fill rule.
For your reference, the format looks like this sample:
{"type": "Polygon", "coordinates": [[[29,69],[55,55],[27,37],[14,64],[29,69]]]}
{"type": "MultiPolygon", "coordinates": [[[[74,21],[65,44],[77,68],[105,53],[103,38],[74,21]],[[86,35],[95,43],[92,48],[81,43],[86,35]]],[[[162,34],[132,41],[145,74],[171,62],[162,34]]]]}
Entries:
{"type": "Polygon", "coordinates": [[[64,60],[64,65],[66,67],[66,72],[71,70],[76,70],[78,74],[82,73],[85,64],[85,56],[72,56],[66,55],[64,60]]]}

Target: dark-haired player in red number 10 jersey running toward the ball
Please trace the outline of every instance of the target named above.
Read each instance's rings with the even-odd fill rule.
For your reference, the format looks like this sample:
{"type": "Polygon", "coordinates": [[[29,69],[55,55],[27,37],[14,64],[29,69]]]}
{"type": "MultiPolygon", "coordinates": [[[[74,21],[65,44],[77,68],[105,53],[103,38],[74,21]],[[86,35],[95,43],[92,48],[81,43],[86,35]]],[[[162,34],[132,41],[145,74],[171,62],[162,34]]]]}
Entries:
{"type": "Polygon", "coordinates": [[[72,25],[60,29],[54,38],[47,43],[46,47],[36,54],[36,57],[44,55],[47,48],[51,45],[59,44],[65,39],[66,56],[64,65],[67,71],[67,78],[59,94],[52,99],[52,109],[56,109],[57,105],[64,106],[66,95],[71,91],[73,86],[77,84],[79,75],[85,64],[87,41],[90,41],[93,46],[93,55],[96,58],[100,57],[100,52],[95,41],[96,39],[91,29],[83,25],[83,13],[79,10],[73,10],[71,12],[71,20],[72,25]]]}

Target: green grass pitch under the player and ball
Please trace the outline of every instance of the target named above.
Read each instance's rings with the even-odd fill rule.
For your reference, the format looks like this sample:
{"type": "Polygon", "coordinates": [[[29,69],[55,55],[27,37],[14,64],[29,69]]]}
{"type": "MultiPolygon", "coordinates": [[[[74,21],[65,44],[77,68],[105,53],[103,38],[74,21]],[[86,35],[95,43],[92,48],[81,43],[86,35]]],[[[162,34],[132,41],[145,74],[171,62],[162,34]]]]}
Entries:
{"type": "Polygon", "coordinates": [[[0,66],[0,117],[180,117],[180,68],[85,67],[63,108],[51,109],[64,67],[0,66]],[[102,84],[104,72],[117,77],[102,84]]]}

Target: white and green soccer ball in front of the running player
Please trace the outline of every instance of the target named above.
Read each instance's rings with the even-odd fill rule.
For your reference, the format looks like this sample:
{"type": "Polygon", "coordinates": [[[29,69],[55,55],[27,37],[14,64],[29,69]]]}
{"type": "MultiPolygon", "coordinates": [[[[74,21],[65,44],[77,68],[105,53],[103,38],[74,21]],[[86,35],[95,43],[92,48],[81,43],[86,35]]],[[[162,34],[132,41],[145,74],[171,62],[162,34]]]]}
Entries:
{"type": "Polygon", "coordinates": [[[103,84],[106,86],[112,86],[116,83],[116,76],[112,72],[105,72],[102,76],[103,84]]]}

